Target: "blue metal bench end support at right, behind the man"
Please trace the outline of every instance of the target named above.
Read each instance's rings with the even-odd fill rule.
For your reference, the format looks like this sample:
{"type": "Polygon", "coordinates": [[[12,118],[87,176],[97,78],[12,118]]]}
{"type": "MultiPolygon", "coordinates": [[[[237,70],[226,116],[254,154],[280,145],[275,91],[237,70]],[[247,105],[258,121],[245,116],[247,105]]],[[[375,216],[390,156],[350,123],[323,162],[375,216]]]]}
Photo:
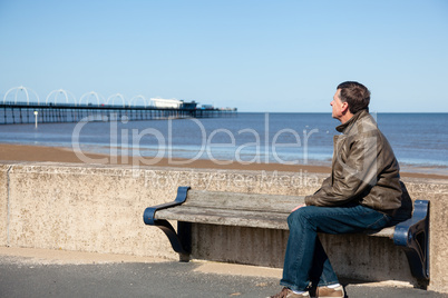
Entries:
{"type": "Polygon", "coordinates": [[[408,257],[411,274],[420,284],[429,281],[429,201],[416,200],[412,218],[397,225],[393,242],[408,257]]]}

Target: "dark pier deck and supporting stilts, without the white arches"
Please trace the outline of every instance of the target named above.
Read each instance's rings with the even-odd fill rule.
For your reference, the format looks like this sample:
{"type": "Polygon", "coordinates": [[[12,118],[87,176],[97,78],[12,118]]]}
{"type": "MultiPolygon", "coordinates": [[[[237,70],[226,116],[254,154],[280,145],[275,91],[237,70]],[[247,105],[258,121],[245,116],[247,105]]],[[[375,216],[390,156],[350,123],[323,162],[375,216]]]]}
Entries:
{"type": "Polygon", "coordinates": [[[60,123],[79,121],[128,121],[235,117],[236,109],[198,109],[191,105],[178,108],[145,106],[94,106],[75,103],[2,102],[0,125],[60,123]],[[124,118],[125,117],[125,118],[124,118]]]}

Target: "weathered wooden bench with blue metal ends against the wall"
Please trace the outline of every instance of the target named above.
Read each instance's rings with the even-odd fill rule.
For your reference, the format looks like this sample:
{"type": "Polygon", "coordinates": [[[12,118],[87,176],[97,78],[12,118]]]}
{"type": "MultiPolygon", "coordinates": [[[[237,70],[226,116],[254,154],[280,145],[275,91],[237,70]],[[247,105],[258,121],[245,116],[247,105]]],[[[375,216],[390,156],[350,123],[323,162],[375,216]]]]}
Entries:
{"type": "MultiPolygon", "coordinates": [[[[288,216],[303,203],[304,197],[193,190],[179,187],[174,201],[148,207],[144,222],[160,228],[181,260],[191,252],[191,225],[210,224],[288,230],[288,216]],[[177,232],[168,220],[177,221],[177,232]]],[[[401,247],[411,274],[420,284],[429,281],[429,201],[416,200],[412,217],[378,231],[371,237],[387,237],[401,247]]]]}

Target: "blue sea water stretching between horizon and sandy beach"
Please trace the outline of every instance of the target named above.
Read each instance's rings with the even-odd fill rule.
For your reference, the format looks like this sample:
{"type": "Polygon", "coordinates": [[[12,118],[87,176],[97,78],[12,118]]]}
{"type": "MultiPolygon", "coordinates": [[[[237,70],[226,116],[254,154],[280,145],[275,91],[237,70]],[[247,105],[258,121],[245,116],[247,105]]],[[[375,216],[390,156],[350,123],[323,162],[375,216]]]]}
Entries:
{"type": "MultiPolygon", "coordinates": [[[[372,113],[407,171],[448,175],[448,113],[372,113]]],[[[80,152],[216,162],[330,166],[340,122],[331,113],[0,125],[0,142],[80,152]]],[[[1,157],[0,157],[1,159],[1,157]]],[[[150,162],[148,162],[150,163],[150,162]]]]}

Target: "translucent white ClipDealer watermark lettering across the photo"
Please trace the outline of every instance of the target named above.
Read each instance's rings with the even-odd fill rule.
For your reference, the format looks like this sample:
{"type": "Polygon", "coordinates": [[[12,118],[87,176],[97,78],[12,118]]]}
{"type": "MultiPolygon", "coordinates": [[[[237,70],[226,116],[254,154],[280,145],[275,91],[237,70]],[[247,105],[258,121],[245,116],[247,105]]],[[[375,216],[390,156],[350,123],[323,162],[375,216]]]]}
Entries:
{"type": "MultiPolygon", "coordinates": [[[[132,157],[132,166],[134,169],[138,169],[140,165],[144,166],[153,166],[159,162],[163,158],[168,159],[168,165],[188,165],[198,160],[201,158],[206,157],[216,165],[230,165],[232,162],[238,162],[242,165],[247,163],[269,163],[270,157],[272,156],[275,162],[282,165],[299,165],[299,163],[308,163],[308,147],[310,138],[319,132],[319,129],[304,129],[302,133],[299,133],[296,130],[291,128],[283,128],[279,131],[275,131],[273,137],[271,138],[270,131],[270,118],[269,113],[264,115],[264,131],[263,135],[259,133],[253,128],[244,128],[236,132],[232,132],[225,128],[217,128],[207,135],[207,131],[204,125],[197,119],[187,119],[188,121],[193,121],[201,135],[201,145],[197,147],[196,155],[189,159],[175,159],[173,156],[173,140],[175,136],[173,136],[173,120],[167,120],[167,133],[166,136],[155,128],[146,128],[143,130],[138,129],[118,129],[118,121],[121,123],[127,123],[128,119],[126,117],[121,117],[118,119],[117,115],[110,115],[108,119],[101,119],[103,121],[109,121],[109,155],[101,158],[90,158],[86,156],[80,145],[80,136],[82,129],[89,122],[98,121],[95,116],[88,116],[82,118],[76,126],[71,135],[71,146],[76,153],[76,156],[86,163],[110,163],[117,165],[118,157],[120,157],[123,163],[127,163],[129,158],[132,157]],[[247,135],[254,139],[254,141],[245,142],[242,145],[236,145],[236,140],[242,135],[247,135]],[[216,143],[215,139],[217,135],[225,135],[228,137],[228,142],[216,143]],[[290,137],[293,141],[291,142],[280,142],[282,136],[285,135],[290,137]],[[120,137],[121,143],[118,143],[118,137],[120,137]],[[262,137],[264,137],[264,142],[262,142],[262,137]],[[156,143],[156,155],[152,157],[145,157],[142,155],[140,145],[144,138],[153,138],[156,143]],[[128,146],[130,143],[130,146],[128,146]],[[120,148],[120,155],[118,153],[118,148],[120,148]],[[224,148],[225,150],[233,152],[233,158],[228,160],[222,160],[215,158],[215,153],[213,149],[224,148]],[[254,155],[250,160],[244,160],[243,151],[246,149],[254,149],[254,155]],[[303,155],[296,155],[296,158],[293,160],[283,160],[279,151],[281,148],[301,148],[303,150],[303,155]]],[[[284,136],[283,136],[284,137],[284,136]]]]}

